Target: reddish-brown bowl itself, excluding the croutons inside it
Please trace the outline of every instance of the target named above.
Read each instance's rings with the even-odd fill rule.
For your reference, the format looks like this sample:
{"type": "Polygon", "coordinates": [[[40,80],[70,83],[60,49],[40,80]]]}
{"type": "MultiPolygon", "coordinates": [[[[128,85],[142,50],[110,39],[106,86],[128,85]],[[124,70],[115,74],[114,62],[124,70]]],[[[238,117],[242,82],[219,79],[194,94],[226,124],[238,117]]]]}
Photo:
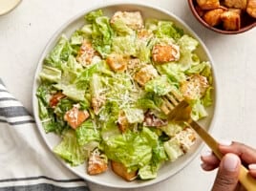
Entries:
{"type": "Polygon", "coordinates": [[[197,18],[197,20],[203,24],[203,26],[213,32],[223,33],[223,34],[237,34],[249,31],[256,27],[256,18],[253,18],[249,16],[248,14],[243,14],[241,18],[241,28],[237,31],[225,31],[221,27],[212,27],[209,24],[207,24],[203,18],[199,15],[198,11],[196,10],[197,1],[196,0],[187,0],[188,5],[194,16],[197,18]]]}

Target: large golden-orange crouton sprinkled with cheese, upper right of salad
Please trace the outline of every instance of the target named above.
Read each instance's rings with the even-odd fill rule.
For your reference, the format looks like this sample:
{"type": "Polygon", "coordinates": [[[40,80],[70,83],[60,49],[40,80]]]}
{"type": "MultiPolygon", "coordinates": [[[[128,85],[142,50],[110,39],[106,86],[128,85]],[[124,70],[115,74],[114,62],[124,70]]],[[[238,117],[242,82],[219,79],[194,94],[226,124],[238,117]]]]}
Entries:
{"type": "Polygon", "coordinates": [[[153,61],[165,63],[180,59],[180,47],[174,44],[160,45],[157,44],[152,50],[153,61]]]}

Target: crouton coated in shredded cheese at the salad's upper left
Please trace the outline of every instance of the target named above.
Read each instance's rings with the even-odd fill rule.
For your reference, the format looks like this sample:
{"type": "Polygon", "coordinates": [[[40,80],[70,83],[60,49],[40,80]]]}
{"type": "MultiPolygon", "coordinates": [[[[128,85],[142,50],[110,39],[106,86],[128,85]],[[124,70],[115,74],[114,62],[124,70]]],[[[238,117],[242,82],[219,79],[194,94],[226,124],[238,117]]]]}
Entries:
{"type": "Polygon", "coordinates": [[[76,55],[76,60],[83,66],[90,65],[96,54],[96,50],[93,48],[92,43],[84,41],[76,55]]]}

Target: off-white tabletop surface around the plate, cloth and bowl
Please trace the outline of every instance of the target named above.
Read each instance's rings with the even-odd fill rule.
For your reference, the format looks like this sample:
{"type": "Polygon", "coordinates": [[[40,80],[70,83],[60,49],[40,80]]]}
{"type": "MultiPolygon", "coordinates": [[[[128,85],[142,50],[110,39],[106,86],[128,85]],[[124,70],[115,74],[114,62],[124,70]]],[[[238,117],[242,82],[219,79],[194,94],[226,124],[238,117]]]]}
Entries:
{"type": "MultiPolygon", "coordinates": [[[[212,135],[217,139],[241,141],[255,148],[256,29],[236,35],[218,34],[205,29],[193,17],[186,1],[137,0],[143,1],[179,16],[200,36],[212,55],[219,85],[219,109],[212,135]]],[[[53,33],[78,12],[112,2],[115,1],[23,0],[14,11],[0,16],[0,77],[31,113],[33,75],[53,33]]],[[[172,178],[130,190],[210,190],[216,171],[203,172],[200,164],[198,156],[172,178]]],[[[121,190],[90,185],[93,191],[121,190]]]]}

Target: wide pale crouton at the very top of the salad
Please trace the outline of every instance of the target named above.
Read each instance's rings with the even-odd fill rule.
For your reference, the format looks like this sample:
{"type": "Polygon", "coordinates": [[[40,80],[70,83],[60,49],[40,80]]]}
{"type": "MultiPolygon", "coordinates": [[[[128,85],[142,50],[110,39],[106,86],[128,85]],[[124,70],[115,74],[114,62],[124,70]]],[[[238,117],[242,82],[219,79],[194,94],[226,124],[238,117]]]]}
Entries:
{"type": "Polygon", "coordinates": [[[112,16],[110,23],[122,20],[129,28],[139,30],[143,28],[143,18],[139,11],[117,11],[112,16]]]}

